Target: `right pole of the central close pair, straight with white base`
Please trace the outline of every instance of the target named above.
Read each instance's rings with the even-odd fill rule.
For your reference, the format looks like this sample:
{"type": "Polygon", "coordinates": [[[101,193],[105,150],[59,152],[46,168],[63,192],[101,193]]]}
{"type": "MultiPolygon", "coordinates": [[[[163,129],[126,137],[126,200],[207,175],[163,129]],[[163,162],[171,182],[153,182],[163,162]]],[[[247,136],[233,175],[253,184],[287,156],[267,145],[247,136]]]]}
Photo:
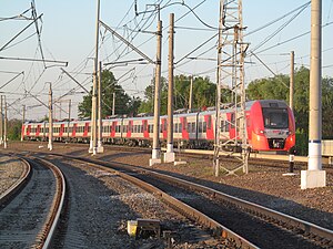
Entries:
{"type": "Polygon", "coordinates": [[[174,13],[170,13],[169,30],[169,85],[168,85],[168,142],[164,162],[174,162],[173,153],[173,48],[174,48],[174,13]]]}

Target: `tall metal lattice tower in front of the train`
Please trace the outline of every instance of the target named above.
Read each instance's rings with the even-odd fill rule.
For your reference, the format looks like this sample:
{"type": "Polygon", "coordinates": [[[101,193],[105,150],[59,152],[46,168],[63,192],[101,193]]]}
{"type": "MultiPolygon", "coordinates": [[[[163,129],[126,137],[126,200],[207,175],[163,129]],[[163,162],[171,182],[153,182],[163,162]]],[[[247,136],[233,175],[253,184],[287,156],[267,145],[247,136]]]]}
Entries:
{"type": "MultiPolygon", "coordinates": [[[[236,158],[240,164],[233,169],[224,168],[234,174],[240,168],[248,173],[249,149],[246,142],[245,118],[245,84],[244,56],[249,44],[243,42],[242,0],[220,0],[218,71],[216,71],[216,121],[214,146],[214,174],[220,170],[220,151],[230,154],[241,153],[236,158]],[[232,110],[230,120],[225,120],[224,107],[232,110]],[[222,115],[224,118],[221,118],[222,115]],[[222,137],[222,131],[235,131],[234,136],[222,137]]],[[[231,133],[232,134],[232,133],[231,133]]]]}

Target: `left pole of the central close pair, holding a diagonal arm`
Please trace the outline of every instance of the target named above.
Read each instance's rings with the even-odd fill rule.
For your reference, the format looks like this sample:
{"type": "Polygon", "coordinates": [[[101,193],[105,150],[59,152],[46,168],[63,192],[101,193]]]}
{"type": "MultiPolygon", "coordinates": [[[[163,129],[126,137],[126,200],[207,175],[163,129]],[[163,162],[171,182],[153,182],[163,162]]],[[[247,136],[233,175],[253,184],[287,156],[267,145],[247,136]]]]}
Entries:
{"type": "Polygon", "coordinates": [[[155,71],[155,96],[154,96],[154,126],[153,126],[153,146],[150,166],[161,163],[160,148],[160,93],[161,93],[161,55],[162,55],[162,21],[158,23],[158,49],[157,49],[157,71],[155,71]]]}

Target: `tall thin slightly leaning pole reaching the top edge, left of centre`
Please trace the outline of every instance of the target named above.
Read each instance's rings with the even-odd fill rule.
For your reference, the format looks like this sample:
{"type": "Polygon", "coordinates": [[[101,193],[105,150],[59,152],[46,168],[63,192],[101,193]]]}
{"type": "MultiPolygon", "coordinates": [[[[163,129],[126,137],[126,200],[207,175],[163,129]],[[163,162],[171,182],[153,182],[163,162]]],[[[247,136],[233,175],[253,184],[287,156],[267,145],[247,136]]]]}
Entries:
{"type": "Polygon", "coordinates": [[[89,153],[97,154],[97,85],[98,85],[98,71],[99,71],[99,32],[100,32],[100,0],[97,6],[97,22],[95,22],[95,56],[93,70],[93,86],[92,86],[92,104],[91,104],[91,136],[89,153]]]}

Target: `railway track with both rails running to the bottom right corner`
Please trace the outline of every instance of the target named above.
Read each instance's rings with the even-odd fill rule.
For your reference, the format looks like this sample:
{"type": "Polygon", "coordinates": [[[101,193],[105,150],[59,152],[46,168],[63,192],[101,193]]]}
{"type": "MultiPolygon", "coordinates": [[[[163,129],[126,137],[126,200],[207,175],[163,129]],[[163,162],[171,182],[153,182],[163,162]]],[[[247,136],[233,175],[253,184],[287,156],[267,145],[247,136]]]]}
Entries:
{"type": "MultiPolygon", "coordinates": [[[[81,158],[70,158],[82,162],[81,158]]],[[[119,170],[118,174],[127,180],[138,184],[140,187],[154,193],[154,195],[158,195],[161,198],[164,197],[163,200],[168,201],[170,206],[176,207],[180,212],[201,222],[201,225],[208,227],[221,238],[228,238],[229,242],[235,242],[235,247],[333,247],[332,230],[321,228],[316,225],[264,208],[250,201],[244,201],[198,184],[192,184],[176,177],[165,176],[164,174],[143,168],[138,169],[138,167],[133,168],[129,165],[87,158],[83,160],[119,170]],[[134,178],[133,175],[135,176],[134,178]],[[150,183],[150,185],[144,185],[144,183],[150,183]],[[160,189],[163,189],[165,194],[160,189]],[[182,199],[185,205],[173,203],[176,201],[174,200],[174,196],[180,196],[180,199],[182,199]],[[191,206],[199,211],[193,211],[191,206]],[[233,227],[233,230],[236,232],[239,231],[238,234],[240,235],[232,232],[229,228],[221,225],[222,222],[226,222],[231,227],[236,224],[236,226],[233,227]]]]}

